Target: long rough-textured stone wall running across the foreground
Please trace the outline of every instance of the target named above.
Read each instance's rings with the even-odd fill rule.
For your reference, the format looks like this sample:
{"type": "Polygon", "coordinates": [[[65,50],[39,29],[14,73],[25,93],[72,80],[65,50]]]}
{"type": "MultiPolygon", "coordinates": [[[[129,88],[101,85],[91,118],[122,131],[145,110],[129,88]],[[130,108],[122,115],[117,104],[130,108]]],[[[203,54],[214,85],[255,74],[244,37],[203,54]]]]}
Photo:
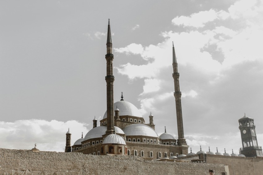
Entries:
{"type": "Polygon", "coordinates": [[[32,152],[0,148],[0,175],[216,175],[225,172],[223,164],[148,161],[138,156],[97,156],[74,152],[32,152]]]}

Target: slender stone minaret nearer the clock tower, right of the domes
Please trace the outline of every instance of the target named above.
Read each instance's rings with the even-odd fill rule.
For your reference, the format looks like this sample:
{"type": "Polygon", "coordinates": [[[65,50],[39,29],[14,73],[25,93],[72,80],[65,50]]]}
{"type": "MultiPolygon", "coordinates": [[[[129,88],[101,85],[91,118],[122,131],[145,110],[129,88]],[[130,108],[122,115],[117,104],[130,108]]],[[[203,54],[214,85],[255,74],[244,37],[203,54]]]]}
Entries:
{"type": "Polygon", "coordinates": [[[175,105],[176,105],[176,117],[177,117],[177,130],[178,130],[178,139],[177,144],[178,145],[187,145],[184,135],[183,135],[183,115],[182,115],[182,105],[181,105],[181,92],[180,92],[180,86],[179,86],[179,73],[177,69],[177,61],[175,56],[175,47],[173,42],[173,78],[175,83],[175,105]]]}

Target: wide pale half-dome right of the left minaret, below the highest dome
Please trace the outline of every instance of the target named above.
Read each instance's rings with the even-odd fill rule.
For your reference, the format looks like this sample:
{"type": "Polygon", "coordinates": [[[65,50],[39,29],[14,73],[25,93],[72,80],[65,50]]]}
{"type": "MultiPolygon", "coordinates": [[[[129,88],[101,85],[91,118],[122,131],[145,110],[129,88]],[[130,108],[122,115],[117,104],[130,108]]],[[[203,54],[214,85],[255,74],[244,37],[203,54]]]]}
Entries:
{"type": "Polygon", "coordinates": [[[153,130],[153,128],[144,124],[132,124],[123,128],[123,132],[127,136],[131,135],[142,135],[149,137],[158,137],[158,134],[153,130]]]}

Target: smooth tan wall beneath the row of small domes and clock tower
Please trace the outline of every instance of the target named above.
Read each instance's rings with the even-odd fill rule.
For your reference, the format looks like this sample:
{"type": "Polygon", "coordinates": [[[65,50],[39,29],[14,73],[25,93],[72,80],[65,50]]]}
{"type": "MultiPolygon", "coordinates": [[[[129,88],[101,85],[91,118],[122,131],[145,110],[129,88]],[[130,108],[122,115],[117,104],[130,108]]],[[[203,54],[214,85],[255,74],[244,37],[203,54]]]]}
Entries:
{"type": "Polygon", "coordinates": [[[206,163],[228,165],[230,175],[263,174],[263,157],[206,155],[206,163]]]}

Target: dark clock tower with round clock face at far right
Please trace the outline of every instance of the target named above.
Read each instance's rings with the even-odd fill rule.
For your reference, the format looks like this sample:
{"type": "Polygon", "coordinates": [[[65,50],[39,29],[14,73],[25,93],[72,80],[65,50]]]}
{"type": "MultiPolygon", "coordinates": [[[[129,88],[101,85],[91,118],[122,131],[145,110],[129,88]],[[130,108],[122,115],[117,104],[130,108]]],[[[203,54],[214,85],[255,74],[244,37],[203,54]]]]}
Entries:
{"type": "Polygon", "coordinates": [[[257,145],[254,119],[245,114],[238,122],[243,146],[240,148],[241,154],[244,154],[246,157],[263,156],[261,146],[257,145]]]}

